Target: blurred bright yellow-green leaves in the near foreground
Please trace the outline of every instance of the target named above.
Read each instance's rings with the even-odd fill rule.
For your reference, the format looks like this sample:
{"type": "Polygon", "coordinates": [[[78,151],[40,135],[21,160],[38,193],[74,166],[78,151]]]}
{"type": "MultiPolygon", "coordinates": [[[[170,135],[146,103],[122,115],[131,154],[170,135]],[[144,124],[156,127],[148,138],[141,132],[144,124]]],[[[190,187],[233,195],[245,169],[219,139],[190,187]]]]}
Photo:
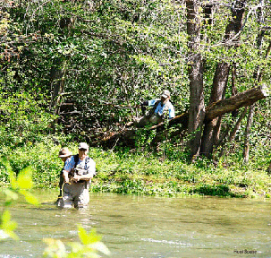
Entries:
{"type": "MultiPolygon", "coordinates": [[[[12,168],[8,162],[5,162],[5,167],[10,176],[10,186],[11,188],[4,188],[3,193],[5,194],[4,209],[1,216],[0,224],[0,241],[7,237],[11,237],[14,240],[19,240],[19,237],[15,233],[17,228],[17,223],[11,219],[10,211],[8,207],[17,200],[19,195],[22,195],[26,202],[38,205],[37,198],[29,192],[33,186],[32,181],[32,168],[25,168],[21,170],[18,176],[15,176],[12,168]]],[[[47,243],[47,248],[44,252],[44,257],[100,257],[97,253],[107,254],[110,252],[100,240],[101,236],[96,234],[95,229],[93,229],[89,234],[84,228],[78,226],[78,232],[80,237],[80,243],[70,243],[72,251],[66,250],[63,242],[56,239],[44,239],[47,243]]]]}

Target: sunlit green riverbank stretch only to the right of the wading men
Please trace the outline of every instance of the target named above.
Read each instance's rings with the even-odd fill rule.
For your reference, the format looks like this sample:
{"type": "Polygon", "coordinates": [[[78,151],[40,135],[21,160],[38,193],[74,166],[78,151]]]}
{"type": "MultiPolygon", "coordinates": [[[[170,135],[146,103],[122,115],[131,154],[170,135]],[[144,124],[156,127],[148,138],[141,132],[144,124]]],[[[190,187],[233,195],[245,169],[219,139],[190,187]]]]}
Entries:
{"type": "Polygon", "coordinates": [[[158,196],[266,197],[271,196],[271,179],[256,164],[230,165],[199,160],[161,159],[152,154],[101,152],[93,192],[131,193],[158,196]],[[254,165],[254,166],[253,166],[254,165]]]}

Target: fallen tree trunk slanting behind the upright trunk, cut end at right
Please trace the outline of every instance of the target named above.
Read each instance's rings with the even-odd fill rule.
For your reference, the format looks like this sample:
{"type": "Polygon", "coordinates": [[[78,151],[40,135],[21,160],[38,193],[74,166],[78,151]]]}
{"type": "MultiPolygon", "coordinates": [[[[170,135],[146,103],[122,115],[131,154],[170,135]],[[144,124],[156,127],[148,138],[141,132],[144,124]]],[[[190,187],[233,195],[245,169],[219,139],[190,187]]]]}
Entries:
{"type": "MultiPolygon", "coordinates": [[[[234,110],[240,107],[250,106],[251,104],[257,102],[260,99],[267,98],[266,89],[267,89],[266,86],[261,86],[258,88],[254,88],[251,90],[246,90],[241,93],[238,93],[229,99],[222,99],[222,100],[212,103],[206,108],[206,116],[205,116],[206,121],[212,120],[216,118],[217,116],[221,116],[226,113],[233,112],[234,110]]],[[[106,137],[101,141],[89,142],[89,145],[90,146],[100,145],[107,148],[114,148],[114,146],[116,145],[135,147],[135,142],[136,142],[135,140],[137,138],[137,134],[139,134],[140,132],[143,132],[142,130],[161,131],[161,130],[164,130],[165,127],[169,128],[169,127],[173,127],[174,125],[178,125],[179,128],[177,128],[176,131],[173,132],[173,135],[177,135],[178,133],[182,134],[183,131],[185,131],[188,128],[188,119],[189,119],[189,113],[185,112],[171,119],[168,122],[168,125],[165,125],[165,123],[160,123],[159,125],[154,125],[148,129],[124,128],[122,132],[113,133],[111,134],[110,137],[106,137]]]]}

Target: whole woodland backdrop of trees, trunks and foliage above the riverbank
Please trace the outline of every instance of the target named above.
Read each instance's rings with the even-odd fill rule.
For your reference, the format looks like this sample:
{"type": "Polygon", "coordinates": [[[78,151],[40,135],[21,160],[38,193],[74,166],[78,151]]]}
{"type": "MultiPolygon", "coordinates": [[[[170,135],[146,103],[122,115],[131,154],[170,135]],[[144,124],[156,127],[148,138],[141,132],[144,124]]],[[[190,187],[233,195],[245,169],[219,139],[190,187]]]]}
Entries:
{"type": "MultiPolygon", "coordinates": [[[[111,149],[158,146],[159,160],[254,162],[266,174],[270,14],[264,0],[1,1],[1,159],[20,171],[48,146],[55,156],[72,142],[105,147],[140,116],[141,101],[168,89],[185,122],[165,125],[158,138],[156,130],[139,130],[132,148],[124,137],[111,149]],[[232,109],[207,118],[212,104],[230,98],[219,108],[232,109]]],[[[59,167],[57,158],[40,159],[39,171],[59,167]]]]}

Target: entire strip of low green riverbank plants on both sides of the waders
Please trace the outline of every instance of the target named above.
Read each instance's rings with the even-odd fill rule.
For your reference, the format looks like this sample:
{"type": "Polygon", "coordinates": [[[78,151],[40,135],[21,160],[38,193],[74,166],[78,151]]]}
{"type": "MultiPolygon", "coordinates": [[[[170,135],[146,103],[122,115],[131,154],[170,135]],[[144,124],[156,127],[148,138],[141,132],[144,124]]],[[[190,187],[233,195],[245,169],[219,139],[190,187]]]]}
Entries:
{"type": "MultiPolygon", "coordinates": [[[[76,146],[69,146],[76,153],[76,146]]],[[[57,188],[63,163],[57,158],[60,146],[52,142],[24,146],[10,153],[13,171],[30,166],[37,188],[57,188]]],[[[216,166],[208,159],[189,164],[185,154],[170,152],[113,151],[92,148],[89,156],[97,163],[97,176],[90,191],[157,196],[271,196],[267,155],[259,155],[243,166],[238,155],[221,158],[216,166]],[[257,161],[255,161],[257,160],[257,161]]],[[[8,184],[4,161],[0,163],[1,185],[8,184]]]]}

